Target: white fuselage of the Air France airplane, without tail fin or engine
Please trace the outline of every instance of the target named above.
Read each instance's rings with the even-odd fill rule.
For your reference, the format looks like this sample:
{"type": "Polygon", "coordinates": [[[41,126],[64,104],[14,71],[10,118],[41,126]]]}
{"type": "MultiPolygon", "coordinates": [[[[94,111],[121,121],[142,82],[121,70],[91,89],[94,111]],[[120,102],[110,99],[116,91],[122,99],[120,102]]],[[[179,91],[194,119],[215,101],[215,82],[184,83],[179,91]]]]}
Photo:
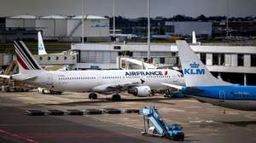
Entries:
{"type": "Polygon", "coordinates": [[[139,83],[137,86],[146,85],[150,89],[170,89],[161,83],[184,84],[182,74],[174,70],[33,71],[19,73],[13,78],[46,89],[76,92],[94,91],[96,87],[132,82],[139,83]],[[26,77],[35,78],[24,80],[26,77]]]}

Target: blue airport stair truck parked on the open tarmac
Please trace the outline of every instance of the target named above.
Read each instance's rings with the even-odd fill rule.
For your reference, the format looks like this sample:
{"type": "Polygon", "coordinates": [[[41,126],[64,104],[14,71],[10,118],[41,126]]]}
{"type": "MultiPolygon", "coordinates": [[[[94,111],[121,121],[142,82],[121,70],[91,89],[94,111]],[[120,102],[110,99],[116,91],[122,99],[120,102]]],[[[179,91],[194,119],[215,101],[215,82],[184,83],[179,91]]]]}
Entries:
{"type": "Polygon", "coordinates": [[[157,110],[153,107],[143,108],[144,132],[143,135],[166,137],[172,140],[184,140],[184,132],[181,124],[165,124],[157,110]],[[149,121],[153,126],[149,127],[149,121]],[[147,122],[147,125],[146,125],[147,122]]]}

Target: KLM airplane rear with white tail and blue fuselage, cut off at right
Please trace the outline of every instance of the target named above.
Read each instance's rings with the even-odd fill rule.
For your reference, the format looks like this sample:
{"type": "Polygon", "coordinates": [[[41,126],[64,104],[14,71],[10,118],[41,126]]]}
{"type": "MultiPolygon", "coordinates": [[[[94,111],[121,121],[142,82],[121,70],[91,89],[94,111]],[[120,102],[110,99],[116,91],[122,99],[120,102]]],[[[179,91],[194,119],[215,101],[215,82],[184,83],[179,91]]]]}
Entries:
{"type": "Polygon", "coordinates": [[[231,84],[213,77],[185,41],[177,41],[177,50],[186,86],[162,84],[213,105],[256,111],[256,86],[231,84]]]}

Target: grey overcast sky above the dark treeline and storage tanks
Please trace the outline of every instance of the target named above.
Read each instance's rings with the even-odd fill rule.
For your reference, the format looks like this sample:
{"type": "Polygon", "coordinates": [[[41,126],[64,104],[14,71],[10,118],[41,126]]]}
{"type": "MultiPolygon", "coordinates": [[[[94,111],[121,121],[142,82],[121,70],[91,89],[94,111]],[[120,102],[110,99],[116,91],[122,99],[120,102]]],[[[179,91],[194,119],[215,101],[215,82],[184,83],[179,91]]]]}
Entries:
{"type": "MultiPolygon", "coordinates": [[[[82,14],[82,0],[0,0],[0,16],[20,14],[82,14]]],[[[127,18],[147,16],[147,0],[115,0],[115,13],[127,18]]],[[[256,0],[150,0],[150,16],[185,14],[256,16],[256,0]]],[[[113,0],[84,0],[84,14],[113,15],[113,0]]]]}

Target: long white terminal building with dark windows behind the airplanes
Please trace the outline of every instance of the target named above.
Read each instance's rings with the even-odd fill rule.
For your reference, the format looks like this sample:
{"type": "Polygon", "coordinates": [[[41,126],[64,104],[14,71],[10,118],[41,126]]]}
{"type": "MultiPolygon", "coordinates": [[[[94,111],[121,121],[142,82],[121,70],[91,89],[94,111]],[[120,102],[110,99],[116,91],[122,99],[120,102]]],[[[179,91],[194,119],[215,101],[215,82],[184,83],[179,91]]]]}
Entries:
{"type": "MultiPolygon", "coordinates": [[[[229,45],[192,45],[195,53],[216,77],[230,83],[256,85],[256,47],[229,45]]],[[[72,44],[71,50],[78,54],[79,69],[114,69],[119,56],[138,60],[147,58],[146,44],[85,43],[72,44]]],[[[153,64],[156,66],[179,66],[177,46],[154,44],[150,46],[153,64]]]]}

